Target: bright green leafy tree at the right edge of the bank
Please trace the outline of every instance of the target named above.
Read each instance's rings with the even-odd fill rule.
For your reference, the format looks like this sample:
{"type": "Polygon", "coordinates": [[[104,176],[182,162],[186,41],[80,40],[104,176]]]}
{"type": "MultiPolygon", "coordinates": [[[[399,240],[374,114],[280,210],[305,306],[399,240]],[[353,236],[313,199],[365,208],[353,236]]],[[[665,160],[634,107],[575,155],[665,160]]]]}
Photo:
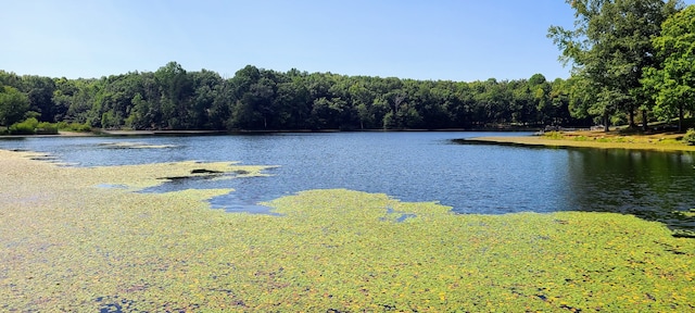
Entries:
{"type": "Polygon", "coordinates": [[[660,68],[649,67],[642,82],[654,91],[655,111],[664,120],[678,115],[683,132],[685,110],[695,103],[695,7],[674,14],[661,28],[654,47],[664,61],[660,68]]]}

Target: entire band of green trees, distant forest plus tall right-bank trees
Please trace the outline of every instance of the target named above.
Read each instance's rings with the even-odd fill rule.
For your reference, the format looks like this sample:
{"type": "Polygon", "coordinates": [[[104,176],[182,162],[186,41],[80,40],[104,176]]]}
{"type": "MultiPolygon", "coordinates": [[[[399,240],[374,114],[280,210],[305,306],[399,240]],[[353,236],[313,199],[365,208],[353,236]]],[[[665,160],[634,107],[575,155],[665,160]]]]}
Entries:
{"type": "Polygon", "coordinates": [[[576,29],[548,32],[571,63],[568,79],[535,74],[464,83],[253,65],[226,78],[177,62],[92,79],[0,70],[0,125],[36,118],[105,129],[646,127],[692,115],[695,8],[661,0],[568,3],[576,29]]]}

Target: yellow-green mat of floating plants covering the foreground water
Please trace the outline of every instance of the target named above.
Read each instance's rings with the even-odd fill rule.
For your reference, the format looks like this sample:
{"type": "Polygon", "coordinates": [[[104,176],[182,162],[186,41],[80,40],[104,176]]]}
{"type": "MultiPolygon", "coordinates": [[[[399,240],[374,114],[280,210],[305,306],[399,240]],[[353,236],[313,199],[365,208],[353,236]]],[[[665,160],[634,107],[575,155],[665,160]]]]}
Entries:
{"type": "Polygon", "coordinates": [[[135,191],[266,167],[28,156],[0,151],[0,311],[695,310],[695,240],[629,215],[458,215],[342,189],[231,214],[205,201],[227,189],[135,191]]]}

